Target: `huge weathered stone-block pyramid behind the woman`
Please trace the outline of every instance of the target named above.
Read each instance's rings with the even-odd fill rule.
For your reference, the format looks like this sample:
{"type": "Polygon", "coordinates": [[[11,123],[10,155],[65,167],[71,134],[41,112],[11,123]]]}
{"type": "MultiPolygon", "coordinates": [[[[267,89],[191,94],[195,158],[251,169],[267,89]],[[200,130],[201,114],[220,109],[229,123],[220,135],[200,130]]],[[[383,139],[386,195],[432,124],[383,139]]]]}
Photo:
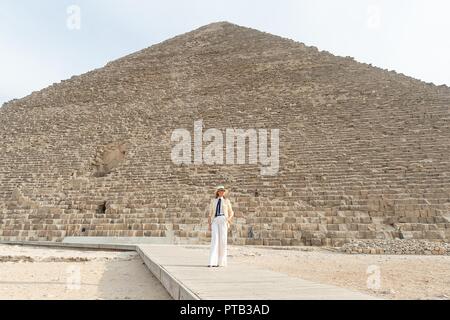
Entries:
{"type": "Polygon", "coordinates": [[[208,243],[224,184],[232,244],[448,241],[449,106],[446,86],[209,24],[0,108],[0,239],[208,243]],[[279,130],[276,174],[175,163],[195,123],[279,130]]]}

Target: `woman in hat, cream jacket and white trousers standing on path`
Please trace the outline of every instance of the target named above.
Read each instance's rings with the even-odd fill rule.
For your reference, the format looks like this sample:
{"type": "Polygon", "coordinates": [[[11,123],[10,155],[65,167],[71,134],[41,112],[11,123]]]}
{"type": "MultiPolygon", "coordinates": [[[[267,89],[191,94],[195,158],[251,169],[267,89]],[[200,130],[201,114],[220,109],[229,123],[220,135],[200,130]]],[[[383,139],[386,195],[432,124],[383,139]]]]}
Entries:
{"type": "Polygon", "coordinates": [[[225,187],[218,186],[216,197],[209,205],[208,230],[211,231],[211,252],[208,267],[227,266],[227,234],[234,212],[225,194],[225,187]]]}

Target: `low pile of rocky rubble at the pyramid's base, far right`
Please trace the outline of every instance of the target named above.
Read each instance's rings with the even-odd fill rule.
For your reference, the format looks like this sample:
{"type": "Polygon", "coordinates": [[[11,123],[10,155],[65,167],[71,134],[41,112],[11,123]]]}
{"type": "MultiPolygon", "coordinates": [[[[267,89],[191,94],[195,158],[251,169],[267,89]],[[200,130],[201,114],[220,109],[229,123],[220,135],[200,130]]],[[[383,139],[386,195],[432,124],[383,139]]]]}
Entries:
{"type": "Polygon", "coordinates": [[[357,254],[450,255],[450,243],[415,239],[353,240],[341,252],[357,254]]]}

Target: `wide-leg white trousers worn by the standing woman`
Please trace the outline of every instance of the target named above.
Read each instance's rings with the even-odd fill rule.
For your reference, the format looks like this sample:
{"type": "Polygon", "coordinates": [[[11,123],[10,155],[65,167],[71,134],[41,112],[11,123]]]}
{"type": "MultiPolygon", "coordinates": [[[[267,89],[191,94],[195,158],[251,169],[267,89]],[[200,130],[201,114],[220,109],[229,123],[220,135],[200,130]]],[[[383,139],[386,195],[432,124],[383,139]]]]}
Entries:
{"type": "Polygon", "coordinates": [[[227,218],[225,216],[215,217],[211,223],[209,265],[227,266],[227,233],[227,218]]]}

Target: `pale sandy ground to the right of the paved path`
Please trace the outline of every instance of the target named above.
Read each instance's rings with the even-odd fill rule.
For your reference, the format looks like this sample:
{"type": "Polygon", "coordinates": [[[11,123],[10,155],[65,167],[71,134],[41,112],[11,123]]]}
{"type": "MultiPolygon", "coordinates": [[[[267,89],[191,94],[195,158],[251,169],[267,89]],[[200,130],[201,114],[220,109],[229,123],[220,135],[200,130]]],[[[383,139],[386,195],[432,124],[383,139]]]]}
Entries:
{"type": "Polygon", "coordinates": [[[384,299],[450,299],[450,256],[350,255],[311,247],[247,246],[228,246],[228,256],[230,263],[251,263],[384,299]]]}

